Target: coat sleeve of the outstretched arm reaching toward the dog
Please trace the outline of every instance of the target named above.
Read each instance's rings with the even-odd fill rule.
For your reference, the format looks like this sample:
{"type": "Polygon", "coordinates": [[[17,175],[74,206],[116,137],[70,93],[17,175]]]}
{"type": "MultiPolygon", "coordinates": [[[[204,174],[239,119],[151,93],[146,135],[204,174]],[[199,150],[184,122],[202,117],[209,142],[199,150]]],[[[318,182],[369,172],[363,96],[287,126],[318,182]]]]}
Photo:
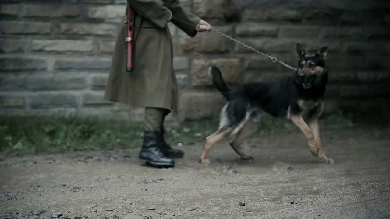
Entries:
{"type": "Polygon", "coordinates": [[[195,14],[192,14],[186,8],[184,8],[184,6],[179,2],[179,0],[173,0],[172,5],[169,7],[169,9],[172,11],[172,16],[186,21],[187,23],[191,23],[193,25],[189,25],[187,23],[184,23],[183,21],[179,21],[174,18],[171,19],[171,22],[174,23],[174,25],[176,25],[178,28],[183,30],[190,37],[195,37],[195,35],[197,34],[195,26],[199,23],[201,19],[195,14]]]}

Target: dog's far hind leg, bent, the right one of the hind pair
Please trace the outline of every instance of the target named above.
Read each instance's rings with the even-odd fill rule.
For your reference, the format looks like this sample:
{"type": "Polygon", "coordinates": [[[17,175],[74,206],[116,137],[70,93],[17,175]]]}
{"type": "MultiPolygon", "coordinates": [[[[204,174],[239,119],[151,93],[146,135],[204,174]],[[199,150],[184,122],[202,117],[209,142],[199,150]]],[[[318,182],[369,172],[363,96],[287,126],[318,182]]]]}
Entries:
{"type": "Polygon", "coordinates": [[[242,142],[245,140],[245,138],[248,138],[250,135],[252,135],[257,128],[260,126],[260,122],[254,121],[252,119],[249,119],[246,124],[242,127],[242,129],[238,132],[236,137],[232,142],[230,142],[230,146],[233,148],[233,150],[241,156],[241,159],[243,160],[252,160],[254,159],[249,153],[247,152],[246,147],[243,147],[242,142]]]}

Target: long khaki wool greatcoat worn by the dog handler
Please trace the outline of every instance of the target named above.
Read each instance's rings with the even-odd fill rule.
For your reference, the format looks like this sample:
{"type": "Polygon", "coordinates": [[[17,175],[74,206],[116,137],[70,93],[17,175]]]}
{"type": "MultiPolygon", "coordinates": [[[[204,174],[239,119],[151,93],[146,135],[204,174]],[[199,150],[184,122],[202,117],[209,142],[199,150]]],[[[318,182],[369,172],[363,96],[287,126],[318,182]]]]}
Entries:
{"type": "Polygon", "coordinates": [[[135,10],[133,71],[126,72],[126,24],[115,42],[105,99],[134,107],[165,108],[177,114],[178,88],[173,70],[172,38],[168,20],[190,37],[201,20],[179,0],[127,0],[135,10]]]}

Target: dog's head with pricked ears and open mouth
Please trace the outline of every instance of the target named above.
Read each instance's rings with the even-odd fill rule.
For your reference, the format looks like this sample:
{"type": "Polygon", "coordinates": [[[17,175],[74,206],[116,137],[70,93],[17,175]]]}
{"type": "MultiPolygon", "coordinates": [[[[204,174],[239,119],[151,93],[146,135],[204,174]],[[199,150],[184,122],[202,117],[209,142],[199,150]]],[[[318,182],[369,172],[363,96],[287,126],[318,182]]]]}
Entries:
{"type": "Polygon", "coordinates": [[[308,89],[320,81],[323,74],[327,72],[325,67],[327,46],[319,49],[314,55],[308,55],[302,46],[297,43],[296,52],[299,58],[296,81],[304,89],[308,89]]]}

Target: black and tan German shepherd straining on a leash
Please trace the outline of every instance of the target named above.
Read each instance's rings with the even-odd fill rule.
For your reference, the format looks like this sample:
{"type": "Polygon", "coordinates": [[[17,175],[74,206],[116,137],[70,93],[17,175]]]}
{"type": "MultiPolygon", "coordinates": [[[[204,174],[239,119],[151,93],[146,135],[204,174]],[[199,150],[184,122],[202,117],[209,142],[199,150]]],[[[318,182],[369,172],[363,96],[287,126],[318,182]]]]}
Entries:
{"type": "Polygon", "coordinates": [[[298,69],[288,78],[274,83],[246,83],[229,89],[223,81],[220,69],[209,67],[213,85],[227,100],[220,113],[218,130],[208,136],[204,143],[201,163],[210,163],[207,159],[210,148],[230,134],[237,134],[230,146],[241,159],[253,159],[241,143],[250,136],[261,123],[264,114],[272,117],[286,117],[305,134],[310,152],[321,161],[333,163],[321,148],[318,118],[324,104],[323,98],[328,82],[328,68],[325,66],[327,46],[314,55],[305,53],[297,43],[298,69]],[[308,123],[304,118],[307,118],[308,123]]]}

